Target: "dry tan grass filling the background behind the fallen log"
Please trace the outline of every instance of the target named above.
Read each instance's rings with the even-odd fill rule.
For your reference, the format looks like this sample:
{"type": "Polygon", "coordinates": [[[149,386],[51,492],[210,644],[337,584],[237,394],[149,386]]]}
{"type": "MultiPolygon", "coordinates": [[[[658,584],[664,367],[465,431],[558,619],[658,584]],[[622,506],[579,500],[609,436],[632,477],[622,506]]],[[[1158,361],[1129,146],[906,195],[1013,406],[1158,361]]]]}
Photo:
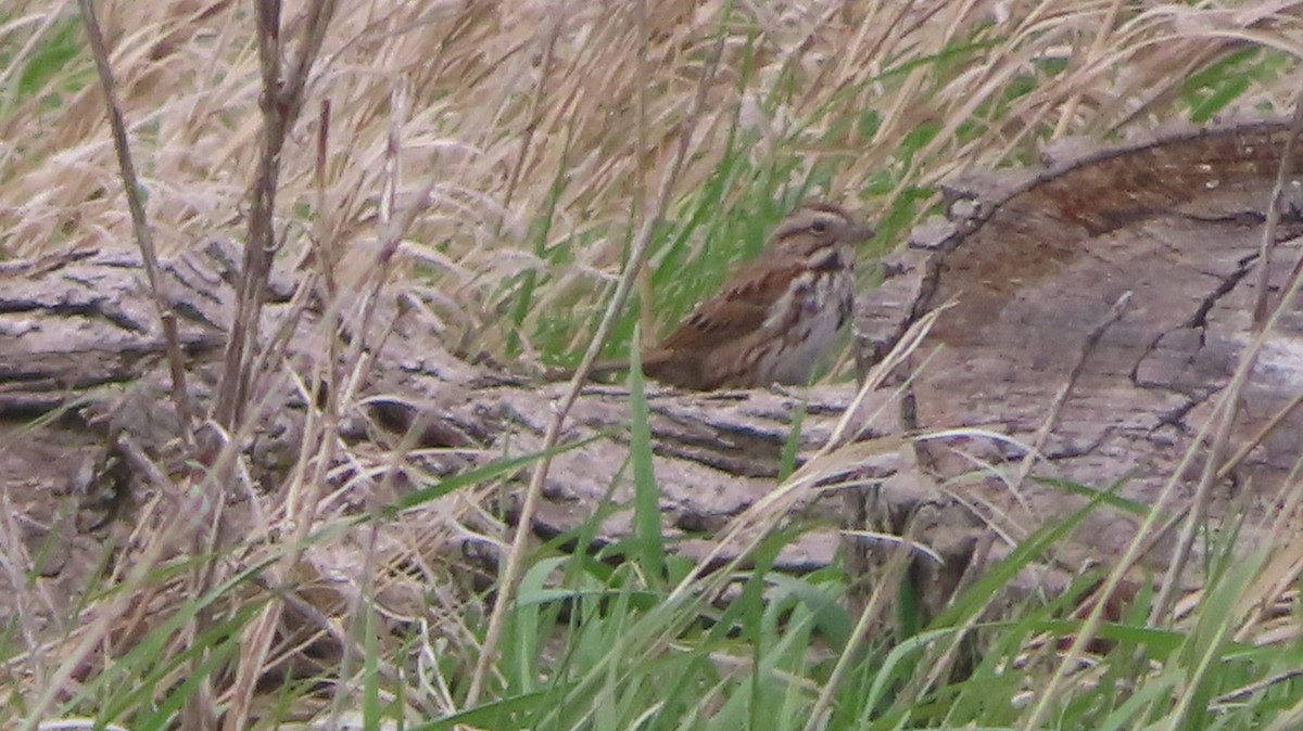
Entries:
{"type": "MultiPolygon", "coordinates": [[[[5,18],[5,47],[29,48],[8,66],[10,78],[23,75],[22,61],[65,22],[76,25],[65,4],[68,20],[43,26],[48,16],[38,13],[47,5],[26,3],[5,18]]],[[[242,232],[261,124],[250,9],[103,5],[160,247],[242,232]]],[[[753,215],[761,200],[799,191],[890,216],[896,237],[923,213],[904,204],[920,187],[1025,153],[1052,133],[1100,135],[1182,117],[1181,83],[1192,68],[1248,42],[1298,44],[1289,4],[1274,16],[1156,5],[1128,10],[1104,31],[1108,9],[1065,0],[665,0],[650,3],[640,21],[633,1],[348,5],[308,90],[308,117],[287,147],[279,208],[287,256],[310,235],[347,252],[354,268],[377,254],[388,107],[400,85],[409,113],[396,202],[420,209],[400,261],[433,280],[452,333],[474,334],[473,345],[491,352],[517,334],[528,352],[541,329],[556,329],[547,320],[559,310],[575,307],[566,320],[585,321],[610,291],[700,64],[721,34],[724,72],[676,189],[680,225],[689,215],[753,215]],[[318,202],[322,100],[332,118],[318,202]],[[711,176],[728,166],[737,178],[713,186],[711,176]],[[771,166],[787,172],[783,187],[756,179],[756,170],[771,166]],[[429,183],[429,196],[418,199],[429,183]],[[537,291],[517,321],[525,272],[537,274],[537,291]]],[[[287,13],[293,17],[292,8],[287,13]]],[[[9,140],[0,155],[0,251],[129,246],[89,59],[77,56],[48,78],[29,75],[40,88],[0,85],[10,90],[0,114],[0,139],[9,140]]],[[[1244,99],[1276,101],[1276,94],[1252,88],[1244,99]]],[[[705,256],[710,228],[696,224],[700,230],[683,232],[680,259],[705,256]]],[[[726,258],[745,248],[710,243],[726,258]]],[[[653,263],[668,256],[655,254],[653,263]]],[[[662,304],[667,317],[687,307],[657,302],[657,310],[662,304]]],[[[577,347],[579,330],[555,342],[577,347]]]]}

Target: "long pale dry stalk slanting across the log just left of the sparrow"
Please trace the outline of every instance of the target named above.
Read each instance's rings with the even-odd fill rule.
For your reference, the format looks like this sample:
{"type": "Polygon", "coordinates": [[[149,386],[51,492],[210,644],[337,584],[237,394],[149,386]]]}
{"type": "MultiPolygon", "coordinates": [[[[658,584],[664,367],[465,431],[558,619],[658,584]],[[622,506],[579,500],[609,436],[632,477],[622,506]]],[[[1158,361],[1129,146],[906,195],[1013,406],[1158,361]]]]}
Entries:
{"type": "MultiPolygon", "coordinates": [[[[657,190],[654,208],[650,215],[644,219],[642,228],[638,229],[638,234],[633,239],[633,247],[629,251],[629,260],[624,267],[624,273],[620,276],[619,285],[615,287],[615,294],[611,297],[611,302],[606,307],[602,323],[598,325],[597,333],[593,336],[592,342],[589,342],[588,351],[584,352],[584,359],[580,362],[579,368],[575,371],[575,376],[571,379],[569,388],[566,390],[566,395],[562,398],[562,403],[556,408],[556,415],[547,427],[547,433],[543,437],[542,445],[543,453],[552,450],[552,447],[555,447],[560,441],[562,427],[566,423],[566,416],[569,414],[571,407],[575,406],[575,401],[579,398],[579,393],[584,388],[584,382],[588,380],[588,373],[593,369],[593,363],[597,362],[597,355],[602,351],[602,346],[606,345],[606,339],[610,337],[611,329],[615,326],[615,320],[624,308],[624,300],[628,299],[629,290],[633,287],[638,271],[642,268],[642,263],[646,259],[648,246],[652,243],[652,234],[655,230],[655,224],[665,216],[666,209],[670,206],[670,195],[674,191],[674,183],[679,178],[679,170],[683,168],[684,160],[688,157],[692,134],[697,127],[697,120],[705,107],[706,90],[715,77],[715,69],[719,65],[719,57],[722,53],[723,38],[721,36],[721,39],[715,43],[710,57],[702,66],[701,79],[697,82],[696,96],[692,100],[692,107],[689,108],[679,133],[679,144],[674,151],[674,157],[670,160],[670,166],[666,169],[665,176],[661,177],[661,185],[657,190]]],[[[550,467],[551,458],[541,458],[534,466],[529,486],[525,490],[525,499],[520,507],[520,518],[516,522],[516,533],[512,538],[511,552],[507,554],[507,565],[503,568],[502,578],[498,583],[498,597],[494,601],[493,614],[489,617],[489,630],[485,632],[485,644],[481,648],[480,658],[476,661],[474,674],[470,678],[470,688],[466,691],[468,706],[473,706],[480,700],[480,693],[483,689],[489,667],[493,665],[494,656],[498,652],[498,643],[502,640],[507,610],[512,601],[515,601],[516,584],[520,581],[525,548],[529,542],[529,536],[532,535],[534,512],[538,510],[538,498],[543,492],[543,483],[547,479],[547,471],[550,467]]]]}

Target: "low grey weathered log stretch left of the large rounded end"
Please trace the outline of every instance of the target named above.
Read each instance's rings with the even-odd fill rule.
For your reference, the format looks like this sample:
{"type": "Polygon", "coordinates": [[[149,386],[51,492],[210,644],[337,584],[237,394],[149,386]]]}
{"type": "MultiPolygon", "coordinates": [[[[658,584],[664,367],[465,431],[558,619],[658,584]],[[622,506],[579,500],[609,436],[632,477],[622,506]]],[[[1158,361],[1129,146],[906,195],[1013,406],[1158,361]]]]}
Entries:
{"type": "MultiPolygon", "coordinates": [[[[201,414],[211,407],[235,311],[233,250],[228,242],[206,242],[164,265],[167,297],[192,359],[189,388],[201,414]]],[[[275,281],[263,332],[268,343],[278,330],[288,328],[292,334],[284,358],[271,360],[263,390],[254,397],[265,405],[258,427],[241,442],[241,473],[265,490],[283,483],[302,438],[306,399],[289,376],[297,373],[306,382],[331,337],[319,313],[296,304],[310,298],[294,299],[293,278],[279,274],[275,281]]],[[[0,424],[8,427],[0,480],[30,518],[29,549],[44,552],[47,572],[82,570],[69,568],[61,578],[69,593],[83,570],[96,563],[103,531],[113,519],[130,532],[133,503],[124,509],[121,493],[138,492],[150,481],[147,475],[124,472],[133,459],[124,440],[142,451],[136,462],[155,460],[164,471],[180,471],[193,458],[175,444],[181,425],[168,399],[163,336],[145,287],[138,258],[115,251],[29,268],[0,290],[0,424]],[[50,420],[52,415],[60,418],[50,420]],[[27,428],[33,420],[42,425],[27,428]],[[60,445],[66,458],[50,459],[51,445],[60,445]],[[69,552],[79,559],[69,561],[69,552]]],[[[369,459],[378,468],[374,479],[351,483],[356,505],[383,481],[391,463],[384,450],[403,444],[413,427],[417,434],[407,446],[422,451],[407,460],[408,473],[397,481],[407,489],[537,451],[566,388],[504,376],[450,355],[420,308],[399,307],[407,295],[397,287],[382,295],[370,338],[384,345],[374,352],[366,384],[349,399],[341,424],[341,436],[357,450],[353,459],[369,459]],[[369,442],[375,445],[367,447],[369,442]]],[[[650,386],[667,540],[688,555],[708,553],[719,525],[775,486],[796,411],[805,410],[800,450],[809,453],[827,438],[852,394],[850,385],[816,389],[808,398],[804,390],[702,394],[650,386]]],[[[619,540],[629,531],[629,511],[622,506],[632,499],[627,390],[589,386],[571,415],[566,441],[589,444],[555,459],[536,528],[543,536],[563,533],[602,509],[610,514],[597,538],[619,540]]],[[[353,476],[344,471],[339,480],[353,476]]],[[[780,567],[807,571],[831,561],[839,498],[817,502],[822,507],[812,506],[807,516],[822,528],[790,546],[780,567]]],[[[503,505],[509,518],[513,498],[507,496],[503,505]]]]}

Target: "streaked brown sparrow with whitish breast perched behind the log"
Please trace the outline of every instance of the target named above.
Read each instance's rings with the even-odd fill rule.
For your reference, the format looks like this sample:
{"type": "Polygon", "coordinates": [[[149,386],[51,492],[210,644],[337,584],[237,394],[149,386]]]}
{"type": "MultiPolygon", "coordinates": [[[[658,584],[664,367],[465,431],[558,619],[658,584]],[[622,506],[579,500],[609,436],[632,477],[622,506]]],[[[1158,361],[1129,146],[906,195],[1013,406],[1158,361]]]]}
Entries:
{"type": "Polygon", "coordinates": [[[852,247],[872,235],[837,206],[801,204],[754,261],[642,352],[644,372],[696,390],[805,384],[851,317],[852,247]]]}

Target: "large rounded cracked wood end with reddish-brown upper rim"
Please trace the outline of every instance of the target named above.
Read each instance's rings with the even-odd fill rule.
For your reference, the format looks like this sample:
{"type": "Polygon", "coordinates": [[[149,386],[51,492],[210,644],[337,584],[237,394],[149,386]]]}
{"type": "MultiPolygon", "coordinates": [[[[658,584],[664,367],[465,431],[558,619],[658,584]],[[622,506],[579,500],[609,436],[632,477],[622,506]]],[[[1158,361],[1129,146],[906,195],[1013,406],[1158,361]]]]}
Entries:
{"type": "MultiPolygon", "coordinates": [[[[1033,475],[1121,484],[1122,497],[1153,505],[1253,337],[1255,267],[1286,134],[1283,124],[1255,122],[1154,135],[952,185],[954,220],[916,232],[889,264],[900,272],[895,281],[860,303],[859,342],[870,354],[952,304],[915,354],[906,424],[1003,437],[917,441],[930,477],[923,489],[1016,541],[1084,502],[1022,480],[1024,457],[1038,447],[1033,475]]],[[[1276,297],[1299,258],[1300,232],[1296,206],[1287,207],[1270,264],[1276,297]]],[[[1251,376],[1233,450],[1303,389],[1299,307],[1251,376]]],[[[1251,510],[1246,542],[1274,518],[1300,428],[1303,415],[1285,419],[1218,486],[1214,525],[1242,499],[1251,510]]],[[[1196,477],[1179,475],[1182,497],[1196,477]]],[[[1065,549],[1076,554],[1068,563],[1118,555],[1138,525],[1117,510],[1096,511],[1065,549]]],[[[917,538],[946,542],[971,529],[951,522],[917,538]]],[[[1148,565],[1164,566],[1169,545],[1160,541],[1148,565]]]]}

